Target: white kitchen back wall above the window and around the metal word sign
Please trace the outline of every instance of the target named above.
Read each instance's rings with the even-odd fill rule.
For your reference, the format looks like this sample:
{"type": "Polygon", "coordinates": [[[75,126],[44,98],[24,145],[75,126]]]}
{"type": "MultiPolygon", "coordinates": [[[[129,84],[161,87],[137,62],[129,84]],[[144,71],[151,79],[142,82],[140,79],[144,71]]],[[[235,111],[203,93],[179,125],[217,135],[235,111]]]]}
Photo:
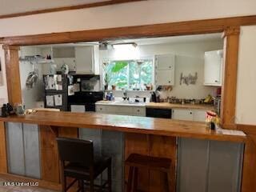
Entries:
{"type": "Polygon", "coordinates": [[[204,81],[204,53],[210,50],[223,49],[222,39],[214,41],[182,42],[171,44],[145,45],[138,46],[135,54],[118,53],[117,50],[100,50],[100,63],[106,59],[136,59],[154,58],[156,54],[175,54],[175,81],[173,90],[163,97],[176,98],[206,98],[208,94],[215,95],[216,88],[203,86],[204,81]],[[120,56],[121,55],[121,56],[120,56]],[[188,75],[198,73],[198,81],[195,85],[186,86],[179,84],[181,73],[188,75]]]}

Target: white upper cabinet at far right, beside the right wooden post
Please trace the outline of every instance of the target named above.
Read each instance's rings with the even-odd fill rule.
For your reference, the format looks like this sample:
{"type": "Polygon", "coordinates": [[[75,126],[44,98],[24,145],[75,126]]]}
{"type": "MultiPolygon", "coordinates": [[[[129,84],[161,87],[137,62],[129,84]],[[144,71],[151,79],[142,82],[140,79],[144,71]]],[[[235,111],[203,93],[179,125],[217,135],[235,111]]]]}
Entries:
{"type": "Polygon", "coordinates": [[[222,86],[223,50],[205,53],[205,86],[222,86]]]}

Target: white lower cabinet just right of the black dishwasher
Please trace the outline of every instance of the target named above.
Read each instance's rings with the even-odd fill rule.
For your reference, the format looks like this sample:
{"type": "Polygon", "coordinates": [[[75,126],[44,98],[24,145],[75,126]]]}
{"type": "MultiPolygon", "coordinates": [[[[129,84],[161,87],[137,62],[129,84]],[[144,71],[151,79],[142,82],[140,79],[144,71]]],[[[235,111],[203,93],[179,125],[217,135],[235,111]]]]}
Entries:
{"type": "Polygon", "coordinates": [[[205,122],[206,110],[173,109],[172,119],[205,122]]]}

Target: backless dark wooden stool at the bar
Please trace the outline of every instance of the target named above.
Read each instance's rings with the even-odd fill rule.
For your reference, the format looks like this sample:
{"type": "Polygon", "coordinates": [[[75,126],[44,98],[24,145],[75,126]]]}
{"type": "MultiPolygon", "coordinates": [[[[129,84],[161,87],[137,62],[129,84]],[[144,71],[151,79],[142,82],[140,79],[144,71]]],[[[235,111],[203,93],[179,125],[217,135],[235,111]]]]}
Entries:
{"type": "Polygon", "coordinates": [[[166,191],[170,189],[170,158],[157,158],[142,154],[130,154],[125,161],[126,166],[129,166],[128,183],[126,192],[135,192],[138,190],[138,168],[147,170],[157,170],[166,174],[166,191]],[[133,190],[132,185],[134,184],[133,190]]]}

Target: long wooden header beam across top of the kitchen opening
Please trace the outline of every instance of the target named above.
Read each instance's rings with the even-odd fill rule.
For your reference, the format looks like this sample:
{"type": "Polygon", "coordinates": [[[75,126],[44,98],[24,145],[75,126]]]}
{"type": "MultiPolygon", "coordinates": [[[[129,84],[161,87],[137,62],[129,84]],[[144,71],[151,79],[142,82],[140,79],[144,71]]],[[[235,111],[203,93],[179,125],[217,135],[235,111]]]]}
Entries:
{"type": "Polygon", "coordinates": [[[34,34],[0,38],[0,44],[32,46],[67,42],[92,42],[118,38],[147,38],[186,34],[221,33],[229,26],[256,25],[256,15],[215,18],[187,22],[170,22],[144,26],[126,26],[100,30],[82,30],[53,34],[34,34]]]}

